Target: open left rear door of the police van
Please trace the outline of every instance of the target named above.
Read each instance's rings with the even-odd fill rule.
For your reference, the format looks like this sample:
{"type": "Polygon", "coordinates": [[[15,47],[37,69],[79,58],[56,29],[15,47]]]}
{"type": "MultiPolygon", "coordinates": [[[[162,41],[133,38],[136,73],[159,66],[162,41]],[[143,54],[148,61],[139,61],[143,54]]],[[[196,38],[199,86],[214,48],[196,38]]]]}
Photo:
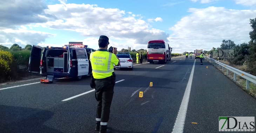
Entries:
{"type": "Polygon", "coordinates": [[[33,45],[29,58],[28,72],[40,72],[40,59],[42,47],[33,45]]]}

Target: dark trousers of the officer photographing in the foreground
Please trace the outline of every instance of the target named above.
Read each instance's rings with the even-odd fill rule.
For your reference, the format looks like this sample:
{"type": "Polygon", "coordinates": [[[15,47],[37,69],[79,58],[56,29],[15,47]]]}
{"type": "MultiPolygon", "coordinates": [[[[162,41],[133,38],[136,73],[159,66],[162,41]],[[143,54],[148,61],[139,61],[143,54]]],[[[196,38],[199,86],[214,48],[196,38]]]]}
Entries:
{"type": "Polygon", "coordinates": [[[98,102],[96,108],[96,124],[100,123],[102,133],[107,130],[110,106],[114,94],[114,84],[111,79],[95,79],[95,98],[98,102]]]}

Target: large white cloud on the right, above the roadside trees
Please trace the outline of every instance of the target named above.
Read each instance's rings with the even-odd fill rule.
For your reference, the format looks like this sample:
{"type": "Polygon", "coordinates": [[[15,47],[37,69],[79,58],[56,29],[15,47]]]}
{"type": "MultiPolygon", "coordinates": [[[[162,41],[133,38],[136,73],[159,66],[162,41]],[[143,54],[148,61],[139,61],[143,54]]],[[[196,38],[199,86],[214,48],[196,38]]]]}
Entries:
{"type": "Polygon", "coordinates": [[[191,15],[183,17],[173,27],[174,32],[168,40],[174,51],[180,52],[195,49],[210,50],[219,47],[223,39],[230,39],[235,44],[248,43],[256,10],[232,10],[224,7],[205,9],[190,8],[191,15]],[[182,48],[181,48],[182,47],[182,48]]]}

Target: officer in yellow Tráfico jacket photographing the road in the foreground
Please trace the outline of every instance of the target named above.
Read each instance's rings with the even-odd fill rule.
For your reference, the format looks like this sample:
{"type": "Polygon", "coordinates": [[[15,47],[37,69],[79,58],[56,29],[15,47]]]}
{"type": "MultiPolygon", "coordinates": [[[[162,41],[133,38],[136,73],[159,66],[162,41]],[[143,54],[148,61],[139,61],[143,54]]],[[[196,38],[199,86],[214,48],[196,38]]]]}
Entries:
{"type": "Polygon", "coordinates": [[[100,131],[100,133],[110,132],[107,130],[107,125],[115,86],[113,64],[115,64],[115,66],[120,66],[120,60],[116,56],[116,48],[113,47],[112,53],[112,51],[107,50],[108,44],[108,37],[100,36],[100,49],[90,54],[90,62],[92,63],[93,69],[92,82],[90,86],[95,88],[95,98],[98,102],[96,108],[95,131],[100,131]]]}

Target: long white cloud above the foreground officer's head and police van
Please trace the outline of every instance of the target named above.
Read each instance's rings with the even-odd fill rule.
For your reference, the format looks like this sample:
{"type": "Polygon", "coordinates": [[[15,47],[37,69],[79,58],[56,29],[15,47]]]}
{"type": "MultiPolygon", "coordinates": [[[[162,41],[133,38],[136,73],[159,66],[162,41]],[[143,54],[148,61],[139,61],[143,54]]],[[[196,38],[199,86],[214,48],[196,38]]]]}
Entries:
{"type": "MultiPolygon", "coordinates": [[[[140,15],[126,16],[126,13],[119,9],[105,9],[88,4],[66,4],[66,7],[67,10],[63,5],[49,5],[49,9],[45,12],[54,14],[59,20],[38,25],[51,29],[81,32],[82,36],[88,37],[104,34],[109,37],[136,39],[138,44],[147,44],[148,38],[167,40],[169,36],[162,30],[150,29],[149,23],[141,18],[136,19],[140,15]]],[[[162,21],[162,19],[156,18],[155,21],[162,21]]]]}

